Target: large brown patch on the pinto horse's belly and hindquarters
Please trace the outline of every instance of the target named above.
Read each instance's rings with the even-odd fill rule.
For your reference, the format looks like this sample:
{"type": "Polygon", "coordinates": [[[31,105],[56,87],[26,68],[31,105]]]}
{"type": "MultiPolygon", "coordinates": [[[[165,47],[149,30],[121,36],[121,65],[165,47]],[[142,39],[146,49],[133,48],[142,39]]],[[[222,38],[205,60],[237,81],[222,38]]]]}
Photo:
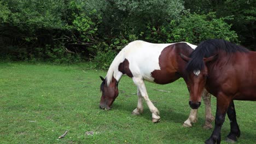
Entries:
{"type": "Polygon", "coordinates": [[[155,83],[167,84],[184,76],[186,63],[179,53],[189,55],[193,49],[186,43],[177,43],[165,47],[159,56],[160,70],[152,71],[151,75],[155,83]]]}

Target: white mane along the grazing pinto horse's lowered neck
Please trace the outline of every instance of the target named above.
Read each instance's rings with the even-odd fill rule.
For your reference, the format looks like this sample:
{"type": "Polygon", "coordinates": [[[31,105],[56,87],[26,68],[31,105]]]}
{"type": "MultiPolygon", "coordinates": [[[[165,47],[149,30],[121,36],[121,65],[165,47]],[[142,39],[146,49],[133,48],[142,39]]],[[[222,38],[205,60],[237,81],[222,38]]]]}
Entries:
{"type": "Polygon", "coordinates": [[[124,61],[124,49],[121,50],[117,56],[115,56],[113,62],[110,64],[110,67],[108,68],[108,72],[106,75],[106,81],[107,86],[109,86],[110,82],[112,81],[112,77],[115,73],[115,71],[118,71],[118,66],[121,62],[124,61]]]}

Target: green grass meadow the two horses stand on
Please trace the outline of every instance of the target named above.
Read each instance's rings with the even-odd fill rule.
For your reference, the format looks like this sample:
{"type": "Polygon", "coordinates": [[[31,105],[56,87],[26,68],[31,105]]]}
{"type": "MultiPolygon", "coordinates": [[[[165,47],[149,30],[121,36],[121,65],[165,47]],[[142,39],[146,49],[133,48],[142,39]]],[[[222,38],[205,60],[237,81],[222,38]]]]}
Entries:
{"type": "MultiPolygon", "coordinates": [[[[203,143],[212,130],[202,129],[204,105],[193,128],[182,127],[188,118],[188,91],[182,79],[168,85],[146,83],[149,98],[158,107],[160,123],[144,113],[132,116],[136,108],[136,87],[123,76],[113,109],[99,109],[98,76],[106,71],[88,65],[0,63],[0,143],[203,143]],[[159,92],[162,89],[171,93],[159,92]],[[67,135],[57,138],[68,130],[67,135]],[[86,135],[93,131],[94,135],[86,135]]],[[[256,141],[256,105],[235,101],[241,137],[237,143],[256,141]]],[[[212,112],[216,98],[212,98],[212,112]]],[[[222,142],[229,133],[229,120],[222,128],[222,142]]]]}

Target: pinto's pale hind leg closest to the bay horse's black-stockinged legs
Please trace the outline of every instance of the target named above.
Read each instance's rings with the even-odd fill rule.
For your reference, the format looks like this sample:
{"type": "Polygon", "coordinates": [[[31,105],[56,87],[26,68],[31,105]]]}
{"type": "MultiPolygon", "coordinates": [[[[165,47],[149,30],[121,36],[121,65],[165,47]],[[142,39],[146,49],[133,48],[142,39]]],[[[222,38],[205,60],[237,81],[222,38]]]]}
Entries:
{"type": "Polygon", "coordinates": [[[214,117],[212,115],[211,94],[208,93],[206,89],[203,90],[202,99],[205,103],[205,125],[203,125],[203,128],[212,129],[212,121],[214,120],[214,117]]]}

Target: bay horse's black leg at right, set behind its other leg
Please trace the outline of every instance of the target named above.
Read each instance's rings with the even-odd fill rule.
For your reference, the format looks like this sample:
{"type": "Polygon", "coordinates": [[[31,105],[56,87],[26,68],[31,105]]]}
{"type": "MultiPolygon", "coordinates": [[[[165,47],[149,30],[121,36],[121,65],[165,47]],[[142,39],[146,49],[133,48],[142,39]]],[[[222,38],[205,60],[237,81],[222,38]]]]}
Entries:
{"type": "Polygon", "coordinates": [[[240,136],[240,129],[238,127],[238,124],[236,122],[236,111],[235,111],[235,105],[234,101],[232,100],[231,103],[229,104],[228,108],[228,117],[230,120],[230,133],[226,139],[227,142],[236,142],[237,139],[236,137],[240,136]]]}

